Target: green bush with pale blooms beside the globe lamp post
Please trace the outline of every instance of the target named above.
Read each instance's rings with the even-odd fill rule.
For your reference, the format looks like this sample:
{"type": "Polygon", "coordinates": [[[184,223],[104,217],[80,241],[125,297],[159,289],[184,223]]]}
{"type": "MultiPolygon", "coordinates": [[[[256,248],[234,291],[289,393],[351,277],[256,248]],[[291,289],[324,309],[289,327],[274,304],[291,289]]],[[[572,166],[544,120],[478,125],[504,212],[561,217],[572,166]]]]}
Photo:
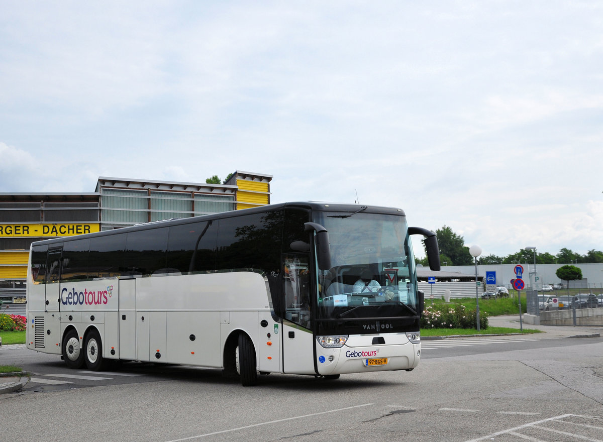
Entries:
{"type": "MultiPolygon", "coordinates": [[[[421,317],[421,329],[475,329],[476,310],[461,304],[429,305],[421,317]]],[[[480,312],[479,328],[488,328],[486,312],[480,312]]]]}

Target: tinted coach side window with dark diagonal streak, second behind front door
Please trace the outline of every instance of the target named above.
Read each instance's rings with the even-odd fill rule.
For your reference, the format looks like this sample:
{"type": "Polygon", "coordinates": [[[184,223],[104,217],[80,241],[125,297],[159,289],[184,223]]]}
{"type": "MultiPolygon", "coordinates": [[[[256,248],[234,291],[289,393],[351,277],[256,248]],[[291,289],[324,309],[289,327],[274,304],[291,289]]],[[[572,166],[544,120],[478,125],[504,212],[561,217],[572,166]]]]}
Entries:
{"type": "Polygon", "coordinates": [[[215,270],[217,233],[215,220],[170,227],[168,268],[182,273],[215,270]]]}

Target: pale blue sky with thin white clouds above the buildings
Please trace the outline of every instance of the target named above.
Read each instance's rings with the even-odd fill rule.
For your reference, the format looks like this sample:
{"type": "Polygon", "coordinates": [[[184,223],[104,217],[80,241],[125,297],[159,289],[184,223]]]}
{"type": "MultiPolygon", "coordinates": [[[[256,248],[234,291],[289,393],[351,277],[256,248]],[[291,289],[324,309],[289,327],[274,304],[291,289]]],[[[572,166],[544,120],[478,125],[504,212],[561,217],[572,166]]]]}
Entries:
{"type": "Polygon", "coordinates": [[[0,192],[237,169],[485,255],[603,250],[603,3],[0,4],[0,192]]]}

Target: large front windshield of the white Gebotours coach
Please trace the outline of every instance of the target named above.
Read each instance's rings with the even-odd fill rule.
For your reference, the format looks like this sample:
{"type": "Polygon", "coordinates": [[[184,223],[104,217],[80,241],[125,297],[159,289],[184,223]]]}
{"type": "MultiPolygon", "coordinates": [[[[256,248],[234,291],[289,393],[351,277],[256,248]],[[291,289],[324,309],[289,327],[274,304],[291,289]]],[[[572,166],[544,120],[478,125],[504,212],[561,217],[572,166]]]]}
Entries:
{"type": "Polygon", "coordinates": [[[320,212],[315,218],[329,232],[332,264],[318,272],[317,319],[418,315],[405,216],[320,212]]]}

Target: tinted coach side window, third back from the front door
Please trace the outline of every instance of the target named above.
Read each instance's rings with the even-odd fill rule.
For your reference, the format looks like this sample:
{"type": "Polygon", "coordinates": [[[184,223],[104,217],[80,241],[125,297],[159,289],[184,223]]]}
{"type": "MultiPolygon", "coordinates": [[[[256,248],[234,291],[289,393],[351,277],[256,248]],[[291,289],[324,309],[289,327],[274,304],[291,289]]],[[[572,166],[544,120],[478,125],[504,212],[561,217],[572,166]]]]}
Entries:
{"type": "Polygon", "coordinates": [[[130,275],[166,273],[167,246],[167,227],[128,232],[125,241],[124,271],[130,275]]]}

